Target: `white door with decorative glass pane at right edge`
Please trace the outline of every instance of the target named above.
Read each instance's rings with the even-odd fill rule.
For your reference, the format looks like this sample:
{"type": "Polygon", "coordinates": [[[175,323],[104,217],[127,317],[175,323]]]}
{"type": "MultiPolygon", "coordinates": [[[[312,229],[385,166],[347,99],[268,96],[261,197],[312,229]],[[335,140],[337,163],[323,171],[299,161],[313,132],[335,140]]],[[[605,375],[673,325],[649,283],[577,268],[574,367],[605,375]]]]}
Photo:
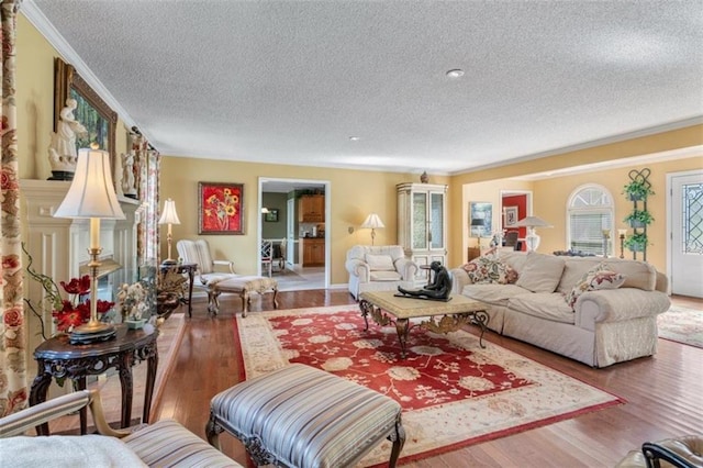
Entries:
{"type": "Polygon", "coordinates": [[[671,293],[703,298],[703,171],[671,176],[671,293]]]}

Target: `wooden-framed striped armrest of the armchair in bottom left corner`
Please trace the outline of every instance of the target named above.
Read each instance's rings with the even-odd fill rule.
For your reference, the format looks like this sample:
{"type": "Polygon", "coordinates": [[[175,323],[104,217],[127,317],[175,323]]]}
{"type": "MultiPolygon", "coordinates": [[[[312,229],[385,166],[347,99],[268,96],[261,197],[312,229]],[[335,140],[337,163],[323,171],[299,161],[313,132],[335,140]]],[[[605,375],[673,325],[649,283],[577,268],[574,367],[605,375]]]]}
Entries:
{"type": "Polygon", "coordinates": [[[96,428],[100,434],[113,437],[124,437],[130,434],[129,431],[116,431],[110,427],[102,412],[100,393],[97,390],[82,390],[55,398],[0,419],[0,438],[23,434],[32,427],[74,413],[86,405],[90,409],[96,428]]]}

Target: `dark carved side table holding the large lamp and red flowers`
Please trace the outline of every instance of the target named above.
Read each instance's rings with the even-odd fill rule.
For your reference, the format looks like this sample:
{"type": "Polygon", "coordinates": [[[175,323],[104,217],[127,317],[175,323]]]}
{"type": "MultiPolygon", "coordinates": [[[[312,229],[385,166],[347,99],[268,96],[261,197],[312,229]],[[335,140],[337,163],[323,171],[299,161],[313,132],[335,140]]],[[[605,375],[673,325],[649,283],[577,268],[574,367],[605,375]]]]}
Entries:
{"type": "MultiPolygon", "coordinates": [[[[121,427],[127,427],[132,419],[132,367],[143,360],[147,361],[146,388],[144,391],[144,412],[142,422],[148,423],[152,408],[152,393],[158,366],[156,337],[158,331],[149,334],[144,330],[130,330],[126,325],[116,325],[118,336],[114,339],[89,345],[71,345],[68,335],[55,336],[42,343],[34,350],[37,361],[37,375],[30,391],[30,405],[46,401],[46,391],[52,378],[71,379],[78,390],[86,389],[86,377],[97,376],[110,368],[120,375],[122,387],[121,427]]],[[[87,413],[80,410],[80,433],[87,432],[87,413]]],[[[48,435],[48,424],[36,427],[38,435],[48,435]]]]}

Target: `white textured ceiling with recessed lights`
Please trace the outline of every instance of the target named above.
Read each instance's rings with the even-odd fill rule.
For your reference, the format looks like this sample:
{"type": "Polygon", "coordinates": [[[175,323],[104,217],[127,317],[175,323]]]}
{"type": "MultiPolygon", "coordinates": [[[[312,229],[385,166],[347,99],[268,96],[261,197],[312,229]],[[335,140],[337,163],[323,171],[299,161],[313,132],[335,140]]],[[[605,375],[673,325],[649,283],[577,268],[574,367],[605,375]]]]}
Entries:
{"type": "Polygon", "coordinates": [[[703,121],[701,0],[21,12],[165,155],[457,174],[703,121]]]}

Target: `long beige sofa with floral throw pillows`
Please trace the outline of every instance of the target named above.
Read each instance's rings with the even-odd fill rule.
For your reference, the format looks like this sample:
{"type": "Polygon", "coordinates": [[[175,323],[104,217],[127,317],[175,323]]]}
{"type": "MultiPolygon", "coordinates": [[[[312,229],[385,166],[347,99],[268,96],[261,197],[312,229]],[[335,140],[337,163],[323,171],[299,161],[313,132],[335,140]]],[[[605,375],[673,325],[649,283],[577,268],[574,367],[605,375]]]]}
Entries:
{"type": "Polygon", "coordinates": [[[593,367],[654,355],[670,305],[667,277],[644,261],[502,250],[451,274],[455,293],[489,304],[489,328],[593,367]]]}

